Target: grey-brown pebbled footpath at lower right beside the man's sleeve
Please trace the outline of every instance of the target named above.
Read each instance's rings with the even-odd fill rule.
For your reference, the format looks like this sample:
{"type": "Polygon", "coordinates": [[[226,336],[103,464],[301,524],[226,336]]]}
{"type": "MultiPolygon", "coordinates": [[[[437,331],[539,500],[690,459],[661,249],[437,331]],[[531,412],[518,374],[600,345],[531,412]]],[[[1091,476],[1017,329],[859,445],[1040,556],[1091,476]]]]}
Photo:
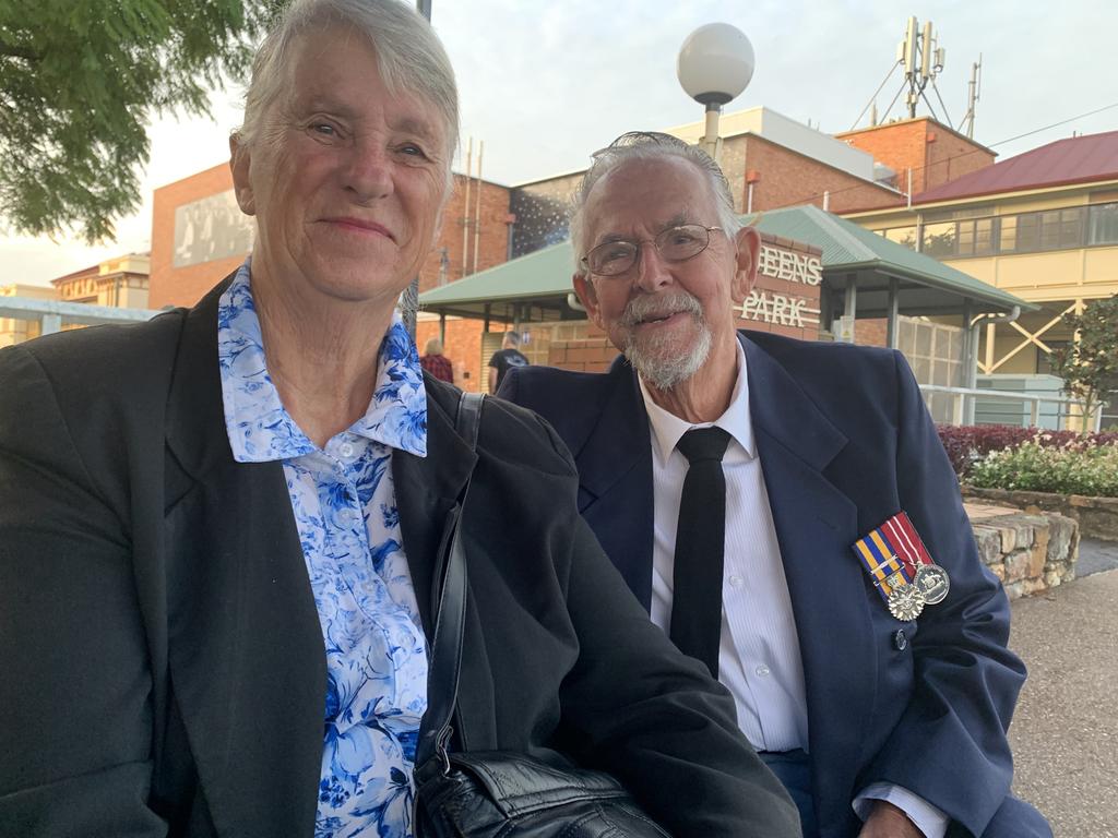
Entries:
{"type": "Polygon", "coordinates": [[[1118,838],[1118,570],[1013,602],[1010,646],[1029,667],[1015,793],[1057,838],[1118,838]]]}

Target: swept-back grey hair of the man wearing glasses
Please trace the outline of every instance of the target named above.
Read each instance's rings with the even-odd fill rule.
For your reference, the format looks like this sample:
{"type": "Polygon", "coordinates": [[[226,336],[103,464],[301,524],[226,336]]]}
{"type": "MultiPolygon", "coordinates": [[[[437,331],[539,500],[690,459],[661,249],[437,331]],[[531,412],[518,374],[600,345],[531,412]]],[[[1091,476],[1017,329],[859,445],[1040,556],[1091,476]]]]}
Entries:
{"type": "Polygon", "coordinates": [[[714,210],[718,213],[718,226],[732,238],[741,229],[741,221],[738,213],[733,211],[733,193],[730,184],[722,174],[711,156],[698,145],[689,145],[679,137],[671,134],[661,134],[654,131],[631,131],[622,134],[605,149],[600,149],[591,155],[594,163],[582,175],[582,182],[575,192],[571,200],[570,212],[570,241],[575,251],[575,270],[585,274],[586,268],[580,261],[586,253],[586,201],[590,197],[594,184],[605,175],[625,163],[634,160],[662,160],[664,158],[680,158],[689,161],[699,171],[707,175],[710,183],[710,191],[714,196],[714,210]]]}

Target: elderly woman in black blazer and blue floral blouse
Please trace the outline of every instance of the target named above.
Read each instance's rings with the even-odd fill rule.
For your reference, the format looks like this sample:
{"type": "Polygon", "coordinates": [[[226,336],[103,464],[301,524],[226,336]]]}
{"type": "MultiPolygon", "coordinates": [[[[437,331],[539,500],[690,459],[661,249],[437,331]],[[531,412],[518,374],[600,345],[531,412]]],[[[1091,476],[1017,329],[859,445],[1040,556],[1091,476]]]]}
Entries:
{"type": "Polygon", "coordinates": [[[475,456],[420,372],[394,305],[456,132],[421,18],[296,0],[230,142],[250,259],[190,311],[0,353],[4,835],[410,835],[471,472],[454,746],[610,771],[680,835],[796,832],[578,517],[551,429],[489,401],[475,456]]]}

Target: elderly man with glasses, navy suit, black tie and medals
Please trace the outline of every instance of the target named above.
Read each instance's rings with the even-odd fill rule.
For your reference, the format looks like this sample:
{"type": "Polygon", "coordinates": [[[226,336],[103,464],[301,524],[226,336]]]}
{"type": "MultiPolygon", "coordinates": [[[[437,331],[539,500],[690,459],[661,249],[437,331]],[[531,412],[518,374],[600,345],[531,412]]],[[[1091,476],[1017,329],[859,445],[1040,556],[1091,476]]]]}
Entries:
{"type": "Polygon", "coordinates": [[[759,239],[713,161],[660,134],[595,156],[575,291],[624,356],[499,394],[575,454],[584,517],[733,693],[805,836],[1049,835],[1008,797],[1006,598],[903,358],[737,333],[759,239]]]}

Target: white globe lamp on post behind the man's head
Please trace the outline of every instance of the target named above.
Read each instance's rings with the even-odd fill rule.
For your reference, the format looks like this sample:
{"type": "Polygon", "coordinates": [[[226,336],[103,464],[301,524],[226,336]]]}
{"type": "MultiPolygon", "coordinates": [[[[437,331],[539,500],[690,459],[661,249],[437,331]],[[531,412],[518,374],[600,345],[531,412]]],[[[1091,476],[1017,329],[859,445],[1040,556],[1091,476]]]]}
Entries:
{"type": "Polygon", "coordinates": [[[675,75],[686,94],[707,106],[707,126],[699,141],[716,161],[719,153],[718,118],[722,105],[737,98],[754,77],[754,47],[737,27],[707,23],[680,47],[675,75]]]}

